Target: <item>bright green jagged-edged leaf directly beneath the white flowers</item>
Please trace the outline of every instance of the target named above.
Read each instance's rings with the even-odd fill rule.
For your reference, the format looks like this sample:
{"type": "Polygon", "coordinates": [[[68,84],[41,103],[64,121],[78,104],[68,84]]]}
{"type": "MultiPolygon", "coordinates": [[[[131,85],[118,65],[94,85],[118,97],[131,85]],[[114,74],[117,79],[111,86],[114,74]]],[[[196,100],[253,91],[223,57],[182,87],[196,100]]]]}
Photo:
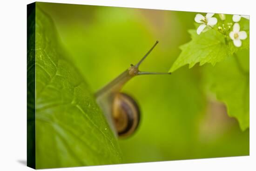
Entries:
{"type": "Polygon", "coordinates": [[[189,30],[189,33],[192,40],[180,47],[182,53],[175,60],[170,72],[186,64],[191,68],[198,62],[200,66],[205,63],[211,63],[214,66],[216,62],[227,57],[227,46],[221,33],[216,30],[209,30],[200,35],[195,30],[189,30]]]}

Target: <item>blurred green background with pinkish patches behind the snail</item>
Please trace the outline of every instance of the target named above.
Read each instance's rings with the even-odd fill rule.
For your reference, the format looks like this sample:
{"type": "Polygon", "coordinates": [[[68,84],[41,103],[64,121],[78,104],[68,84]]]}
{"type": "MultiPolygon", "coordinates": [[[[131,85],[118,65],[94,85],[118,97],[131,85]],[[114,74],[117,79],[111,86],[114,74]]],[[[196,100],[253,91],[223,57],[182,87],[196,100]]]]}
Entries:
{"type": "MultiPolygon", "coordinates": [[[[142,71],[167,72],[190,40],[196,13],[123,7],[38,3],[57,27],[61,42],[94,92],[138,62],[142,71]]],[[[242,132],[225,106],[206,90],[202,67],[130,80],[123,92],[141,107],[141,123],[120,139],[123,163],[249,155],[242,132]]]]}

